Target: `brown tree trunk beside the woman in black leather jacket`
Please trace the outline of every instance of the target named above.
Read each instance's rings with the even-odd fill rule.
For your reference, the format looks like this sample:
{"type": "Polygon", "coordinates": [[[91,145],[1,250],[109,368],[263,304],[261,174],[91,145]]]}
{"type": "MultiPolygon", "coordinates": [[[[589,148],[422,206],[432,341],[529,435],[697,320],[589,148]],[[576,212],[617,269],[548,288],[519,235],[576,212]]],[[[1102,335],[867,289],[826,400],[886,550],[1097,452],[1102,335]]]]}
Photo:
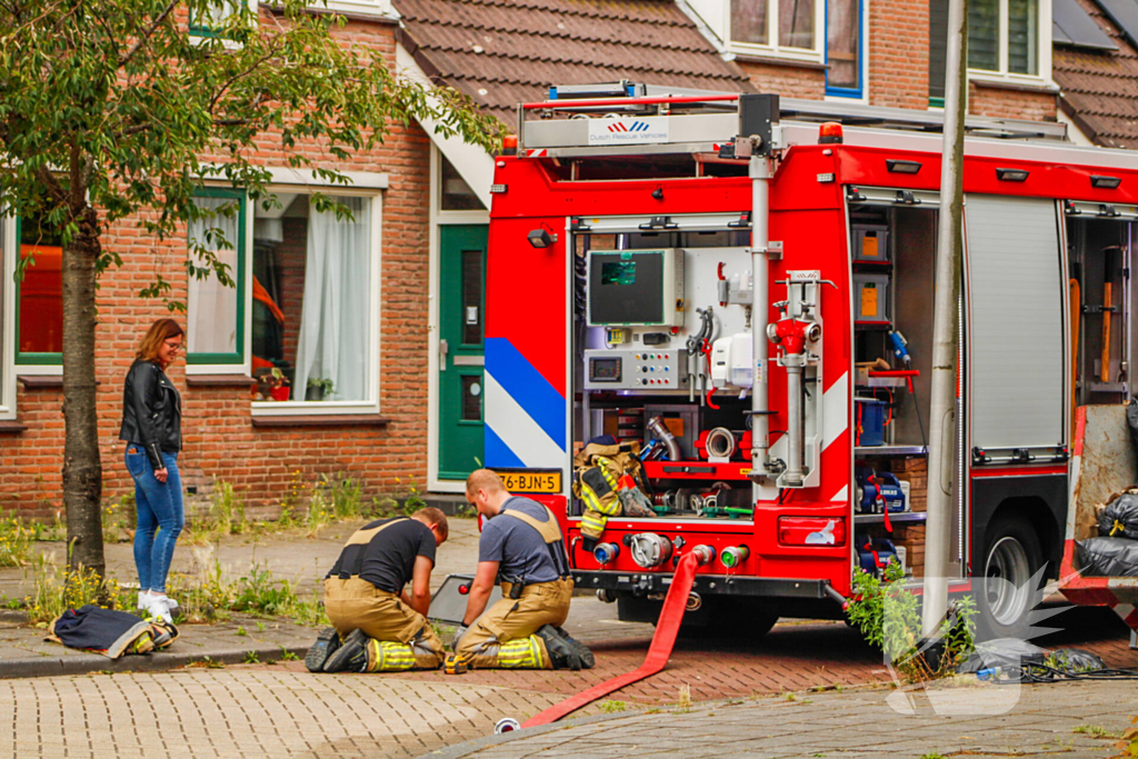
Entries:
{"type": "Polygon", "coordinates": [[[102,577],[102,463],[94,386],[99,249],[98,214],[88,207],[79,217],[79,232],[64,246],[64,506],[69,567],[83,566],[102,577]]]}

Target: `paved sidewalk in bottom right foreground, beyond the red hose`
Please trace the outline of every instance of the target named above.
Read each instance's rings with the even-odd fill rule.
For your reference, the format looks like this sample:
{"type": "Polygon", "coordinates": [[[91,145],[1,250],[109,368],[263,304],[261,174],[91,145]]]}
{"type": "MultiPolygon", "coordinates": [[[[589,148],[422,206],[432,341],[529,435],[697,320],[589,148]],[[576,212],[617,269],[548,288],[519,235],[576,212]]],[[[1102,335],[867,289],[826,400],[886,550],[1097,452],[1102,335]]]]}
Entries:
{"type": "Polygon", "coordinates": [[[720,701],[683,710],[585,718],[424,753],[422,759],[644,759],[729,757],[1025,757],[1104,759],[1112,734],[1138,715],[1131,682],[968,686],[918,693],[913,715],[901,692],[720,701]],[[954,715],[955,712],[955,715],[954,715]],[[963,712],[963,713],[962,713],[963,712]],[[954,715],[954,716],[949,716],[954,715]],[[1075,733],[1085,727],[1088,732],[1075,733]]]}

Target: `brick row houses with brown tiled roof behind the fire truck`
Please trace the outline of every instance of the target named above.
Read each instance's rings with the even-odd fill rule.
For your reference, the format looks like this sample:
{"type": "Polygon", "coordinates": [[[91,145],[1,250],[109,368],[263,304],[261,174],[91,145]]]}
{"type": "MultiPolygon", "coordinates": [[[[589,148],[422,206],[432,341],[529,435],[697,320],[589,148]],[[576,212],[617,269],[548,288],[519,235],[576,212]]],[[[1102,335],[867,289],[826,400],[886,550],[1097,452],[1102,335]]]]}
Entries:
{"type": "MultiPolygon", "coordinates": [[[[828,18],[838,18],[839,6],[844,8],[846,23],[856,34],[844,48],[839,44],[834,49],[823,44],[826,35],[818,34],[809,38],[809,44],[800,35],[798,48],[733,42],[732,3],[744,1],[390,0],[394,5],[387,5],[388,0],[344,0],[331,5],[349,18],[333,34],[382,50],[389,65],[413,79],[465,92],[510,127],[513,105],[543,99],[550,84],[624,77],[649,84],[826,99],[834,102],[835,112],[846,102],[930,108],[934,89],[930,88],[931,60],[935,55],[930,46],[930,28],[934,26],[930,8],[935,10],[942,0],[933,0],[932,6],[905,0],[800,3],[811,9],[815,30],[825,28],[828,18]],[[844,81],[836,82],[834,72],[841,72],[844,81]]],[[[786,3],[769,5],[777,8],[786,3]]],[[[1038,0],[1038,7],[1041,32],[1031,64],[1034,73],[974,72],[970,85],[973,114],[1055,121],[1050,0],[1038,0]]],[[[261,13],[269,11],[262,8],[261,13]]],[[[752,16],[748,23],[752,36],[782,33],[773,17],[757,22],[752,16]]],[[[1014,67],[1007,63],[1008,42],[999,44],[1000,67],[1014,67]]],[[[477,415],[480,402],[475,398],[471,404],[472,398],[463,396],[452,409],[446,383],[462,379],[455,387],[477,396],[479,355],[477,346],[460,349],[453,338],[445,337],[446,320],[452,311],[465,314],[468,325],[471,313],[476,322],[480,317],[477,299],[471,302],[473,306],[463,300],[462,310],[448,307],[447,298],[465,298],[470,288],[448,289],[447,278],[455,265],[447,256],[448,246],[465,256],[468,249],[478,247],[479,230],[485,236],[493,162],[478,148],[432,137],[427,126],[395,125],[384,146],[346,164],[318,157],[322,166],[354,173],[353,192],[369,199],[378,212],[369,248],[369,261],[378,269],[371,290],[378,299],[370,302],[374,312],[368,356],[371,387],[360,397],[340,403],[305,403],[302,396],[294,396],[291,403],[250,399],[250,373],[257,369],[253,312],[262,308],[257,304],[264,305],[253,292],[254,258],[264,249],[263,239],[256,236],[269,236],[264,239],[275,245],[273,265],[280,275],[272,299],[283,317],[278,361],[294,365],[298,363],[298,320],[303,320],[297,304],[297,278],[303,279],[298,225],[308,217],[302,213],[303,201],[292,201],[275,217],[257,216],[251,205],[247,209],[242,230],[247,281],[239,288],[242,307],[238,310],[242,314],[239,321],[244,321],[236,329],[240,361],[179,361],[170,371],[182,393],[185,447],[180,465],[191,501],[195,492],[199,496],[207,493],[217,478],[232,482],[254,512],[269,514],[277,510],[294,478],[313,481],[338,472],[361,481],[365,498],[403,495],[411,487],[451,494],[462,489],[462,468],[469,471],[478,457],[465,452],[465,463],[448,471],[454,468],[446,464],[444,448],[452,435],[448,430],[456,428],[447,427],[447,414],[459,414],[469,429],[473,420],[467,418],[468,412],[477,415]],[[266,231],[270,229],[279,232],[266,231]],[[470,307],[476,311],[470,312],[470,307]]],[[[302,149],[316,155],[315,146],[302,149]]],[[[312,189],[311,176],[283,168],[284,155],[271,140],[265,141],[256,160],[278,170],[274,187],[282,196],[300,197],[312,189]]],[[[124,262],[121,269],[104,274],[99,291],[99,443],[107,497],[131,488],[117,440],[123,376],[142,332],[154,319],[165,315],[160,303],[139,299],[138,290],[156,270],[172,281],[179,298],[187,299],[190,287],[181,267],[185,239],[157,244],[135,221],[115,224],[102,239],[104,247],[118,253],[124,262]]],[[[50,356],[33,355],[34,350],[25,355],[19,345],[28,320],[17,325],[20,307],[11,273],[18,249],[17,224],[3,220],[0,510],[49,517],[60,508],[61,379],[50,356]]],[[[476,258],[469,261],[477,266],[476,258]]],[[[26,281],[23,287],[30,289],[26,281]]],[[[264,317],[262,310],[258,319],[264,317]]]]}

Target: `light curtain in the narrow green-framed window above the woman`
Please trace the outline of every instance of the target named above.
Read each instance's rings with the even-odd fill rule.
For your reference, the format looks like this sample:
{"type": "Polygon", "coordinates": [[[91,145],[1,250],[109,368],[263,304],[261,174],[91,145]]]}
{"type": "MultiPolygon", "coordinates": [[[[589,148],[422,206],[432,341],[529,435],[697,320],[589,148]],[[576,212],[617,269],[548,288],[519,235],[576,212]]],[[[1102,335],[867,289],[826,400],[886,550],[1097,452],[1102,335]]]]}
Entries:
{"type": "MultiPolygon", "coordinates": [[[[199,208],[216,211],[233,198],[195,198],[199,208]]],[[[241,244],[239,229],[240,215],[215,215],[213,218],[199,218],[190,222],[188,236],[191,242],[200,244],[212,250],[220,262],[229,266],[230,277],[237,281],[237,247],[241,244]],[[217,233],[209,230],[221,230],[225,240],[233,247],[223,249],[217,244],[217,233]]],[[[192,250],[189,251],[196,266],[201,262],[192,250]]],[[[209,272],[205,279],[189,278],[187,294],[187,353],[237,353],[237,298],[236,287],[226,287],[217,281],[216,274],[209,272]]]]}

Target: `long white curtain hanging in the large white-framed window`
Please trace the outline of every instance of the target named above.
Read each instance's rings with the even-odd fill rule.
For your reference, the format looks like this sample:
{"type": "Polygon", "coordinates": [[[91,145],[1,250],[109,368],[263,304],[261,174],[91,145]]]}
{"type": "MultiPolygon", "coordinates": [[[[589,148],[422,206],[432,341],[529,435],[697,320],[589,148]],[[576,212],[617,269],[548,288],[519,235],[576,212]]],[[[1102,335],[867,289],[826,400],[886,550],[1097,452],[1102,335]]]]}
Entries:
{"type": "Polygon", "coordinates": [[[368,398],[371,313],[371,201],[332,198],[353,218],[308,213],[304,305],[296,347],[292,399],[303,401],[310,380],[330,380],[325,401],[368,398]]]}

